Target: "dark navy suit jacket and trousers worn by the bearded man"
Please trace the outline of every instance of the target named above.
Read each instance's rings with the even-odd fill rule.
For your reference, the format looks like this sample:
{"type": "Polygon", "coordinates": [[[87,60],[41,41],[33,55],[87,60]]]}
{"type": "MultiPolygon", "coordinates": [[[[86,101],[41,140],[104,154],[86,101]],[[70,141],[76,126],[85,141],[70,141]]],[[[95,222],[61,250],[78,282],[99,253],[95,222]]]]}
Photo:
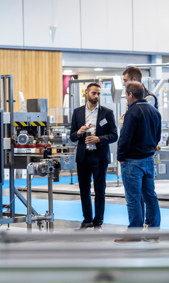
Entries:
{"type": "Polygon", "coordinates": [[[78,172],[79,188],[82,200],[82,209],[84,216],[84,223],[91,223],[92,209],[91,209],[91,176],[93,173],[94,189],[95,189],[95,217],[93,225],[101,225],[103,223],[104,215],[104,198],[105,198],[105,175],[108,164],[111,164],[110,143],[114,143],[118,139],[117,128],[113,111],[99,104],[97,122],[96,122],[96,136],[99,137],[100,142],[96,143],[96,150],[86,150],[85,135],[78,136],[78,130],[85,125],[85,108],[86,105],[74,109],[72,115],[72,123],[70,130],[70,140],[77,142],[76,164],[78,172]],[[106,123],[100,125],[104,120],[106,123]],[[87,203],[85,201],[87,200],[87,203]],[[89,208],[89,211],[88,211],[89,208]]]}

